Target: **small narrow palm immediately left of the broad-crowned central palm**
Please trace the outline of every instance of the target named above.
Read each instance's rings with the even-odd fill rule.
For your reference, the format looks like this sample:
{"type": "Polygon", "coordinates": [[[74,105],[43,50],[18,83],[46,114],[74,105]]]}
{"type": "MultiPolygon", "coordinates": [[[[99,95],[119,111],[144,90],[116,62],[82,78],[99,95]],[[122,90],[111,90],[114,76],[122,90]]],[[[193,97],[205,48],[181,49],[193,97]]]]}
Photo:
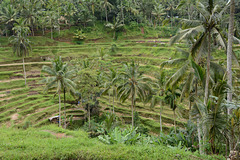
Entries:
{"type": "MultiPolygon", "coordinates": [[[[106,82],[104,84],[104,92],[109,92],[110,95],[110,90],[112,89],[112,103],[113,103],[113,113],[114,113],[114,97],[116,96],[116,83],[118,80],[118,73],[116,70],[110,68],[109,73],[106,73],[106,76],[104,77],[106,79],[106,82]]],[[[103,92],[103,93],[104,93],[103,92]]],[[[109,97],[110,101],[110,97],[109,97]]]]}

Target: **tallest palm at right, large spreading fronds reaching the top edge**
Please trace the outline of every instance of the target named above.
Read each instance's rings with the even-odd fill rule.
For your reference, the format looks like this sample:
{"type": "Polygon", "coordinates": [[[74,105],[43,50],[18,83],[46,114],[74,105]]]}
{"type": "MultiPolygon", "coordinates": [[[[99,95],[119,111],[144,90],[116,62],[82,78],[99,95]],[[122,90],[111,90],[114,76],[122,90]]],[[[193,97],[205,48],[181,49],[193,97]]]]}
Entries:
{"type": "Polygon", "coordinates": [[[219,6],[213,5],[213,1],[209,0],[208,6],[204,6],[202,3],[198,2],[196,10],[201,15],[200,20],[187,20],[184,19],[183,23],[187,29],[181,30],[178,32],[176,36],[174,36],[170,44],[175,43],[176,41],[181,41],[182,39],[195,39],[198,38],[196,41],[193,41],[191,53],[193,57],[196,57],[196,62],[200,60],[202,53],[207,52],[207,74],[206,74],[206,83],[205,83],[205,96],[204,96],[204,103],[206,105],[209,95],[209,80],[210,80],[210,56],[211,56],[211,42],[212,38],[218,42],[223,48],[226,49],[226,43],[224,36],[222,35],[220,24],[223,13],[225,12],[226,8],[223,8],[219,12],[219,6]],[[207,50],[206,50],[207,49],[207,50]],[[198,51],[198,54],[196,55],[198,51]]]}

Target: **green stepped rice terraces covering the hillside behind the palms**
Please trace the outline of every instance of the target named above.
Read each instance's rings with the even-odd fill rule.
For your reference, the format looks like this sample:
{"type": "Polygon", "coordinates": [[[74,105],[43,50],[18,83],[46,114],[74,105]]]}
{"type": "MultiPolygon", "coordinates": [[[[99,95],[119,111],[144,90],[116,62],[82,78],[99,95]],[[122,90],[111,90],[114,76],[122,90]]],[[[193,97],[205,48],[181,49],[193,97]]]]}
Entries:
{"type": "MultiPolygon", "coordinates": [[[[56,53],[65,61],[74,58],[99,60],[100,55],[97,52],[99,48],[105,48],[107,52],[116,45],[116,52],[104,57],[103,66],[111,65],[118,68],[122,62],[133,59],[140,64],[140,69],[150,78],[153,78],[153,71],[159,70],[161,62],[181,56],[176,48],[168,46],[169,39],[130,39],[115,43],[100,40],[88,41],[83,45],[57,42],[43,37],[39,39],[41,43],[36,40],[38,43],[33,46],[31,56],[25,59],[27,86],[24,84],[21,58],[12,56],[11,47],[8,45],[0,49],[0,125],[40,126],[49,123],[49,117],[58,115],[58,100],[53,96],[54,92],[43,93],[44,86],[40,82],[43,76],[42,66],[50,65],[50,59],[56,53]]],[[[182,44],[178,46],[185,47],[182,44]]],[[[112,107],[108,96],[102,96],[99,102],[102,112],[112,107]]],[[[130,101],[116,102],[114,106],[116,114],[125,123],[131,121],[130,104],[130,101]]],[[[64,105],[61,106],[63,111],[64,105]]],[[[177,112],[177,125],[182,127],[188,118],[188,106],[184,102],[180,106],[177,112]]],[[[143,103],[137,103],[136,107],[141,122],[152,132],[158,133],[160,107],[150,109],[149,104],[143,103]]],[[[81,106],[67,104],[66,109],[67,116],[73,116],[75,120],[85,117],[86,112],[81,106]]],[[[163,125],[166,130],[173,126],[173,112],[168,106],[164,106],[163,125]]]]}

